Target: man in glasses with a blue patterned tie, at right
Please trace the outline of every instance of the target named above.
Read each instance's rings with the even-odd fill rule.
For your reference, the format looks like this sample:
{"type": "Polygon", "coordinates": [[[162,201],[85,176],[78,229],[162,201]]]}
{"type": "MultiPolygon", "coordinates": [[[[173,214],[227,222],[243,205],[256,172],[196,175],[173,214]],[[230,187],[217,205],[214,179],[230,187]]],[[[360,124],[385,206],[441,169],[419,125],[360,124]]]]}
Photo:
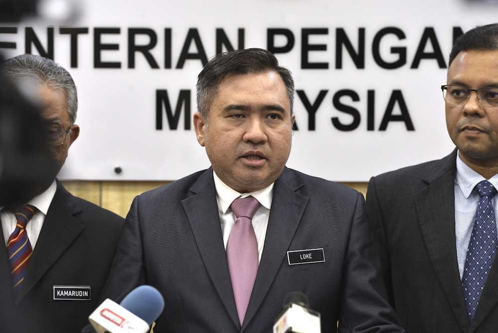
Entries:
{"type": "Polygon", "coordinates": [[[498,24],[456,40],[441,89],[456,149],[372,177],[367,212],[406,332],[497,332],[498,24]]]}

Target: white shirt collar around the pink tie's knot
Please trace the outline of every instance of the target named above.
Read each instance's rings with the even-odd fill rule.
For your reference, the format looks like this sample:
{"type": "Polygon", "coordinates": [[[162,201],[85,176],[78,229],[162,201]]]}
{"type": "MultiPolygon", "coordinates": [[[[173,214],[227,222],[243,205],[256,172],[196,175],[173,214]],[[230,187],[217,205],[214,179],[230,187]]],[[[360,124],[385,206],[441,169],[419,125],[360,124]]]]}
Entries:
{"type": "Polygon", "coordinates": [[[225,214],[227,210],[230,208],[232,202],[238,198],[245,198],[249,195],[255,197],[257,201],[261,204],[261,206],[266,209],[270,209],[271,207],[271,199],[273,194],[273,184],[271,183],[268,187],[260,189],[259,191],[249,192],[249,193],[240,193],[233,189],[232,187],[225,184],[213,170],[213,177],[215,180],[215,188],[216,188],[216,198],[218,199],[218,204],[220,205],[221,211],[225,214]]]}

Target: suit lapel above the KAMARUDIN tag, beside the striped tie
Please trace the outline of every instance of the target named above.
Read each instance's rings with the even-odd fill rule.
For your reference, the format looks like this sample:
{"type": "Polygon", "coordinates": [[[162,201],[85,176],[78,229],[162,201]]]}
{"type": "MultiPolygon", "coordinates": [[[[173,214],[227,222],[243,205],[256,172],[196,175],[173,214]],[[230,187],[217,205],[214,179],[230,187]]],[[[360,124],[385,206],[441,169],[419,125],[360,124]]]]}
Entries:
{"type": "Polygon", "coordinates": [[[73,196],[57,181],[57,191],[29,260],[16,305],[83,231],[85,227],[73,216],[80,211],[73,196]]]}

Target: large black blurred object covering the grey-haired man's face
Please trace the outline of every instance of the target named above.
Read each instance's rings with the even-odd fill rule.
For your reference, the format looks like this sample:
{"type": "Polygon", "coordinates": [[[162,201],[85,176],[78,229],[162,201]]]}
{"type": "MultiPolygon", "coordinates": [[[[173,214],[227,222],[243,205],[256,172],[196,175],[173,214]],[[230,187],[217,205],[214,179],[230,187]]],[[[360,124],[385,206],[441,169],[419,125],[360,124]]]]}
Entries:
{"type": "Polygon", "coordinates": [[[25,203],[53,181],[45,132],[38,109],[0,74],[0,206],[25,203]]]}

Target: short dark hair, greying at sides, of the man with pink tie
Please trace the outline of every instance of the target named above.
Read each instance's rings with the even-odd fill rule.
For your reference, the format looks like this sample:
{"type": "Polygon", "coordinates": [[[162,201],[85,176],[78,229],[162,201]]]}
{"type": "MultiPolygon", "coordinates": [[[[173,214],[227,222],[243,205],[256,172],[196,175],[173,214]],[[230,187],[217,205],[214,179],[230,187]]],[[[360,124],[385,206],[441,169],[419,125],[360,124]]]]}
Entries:
{"type": "Polygon", "coordinates": [[[290,101],[294,104],[294,79],[292,73],[278,65],[275,56],[261,48],[228,51],[211,58],[197,77],[197,110],[207,119],[209,106],[218,93],[218,87],[227,75],[276,72],[282,78],[290,101]]]}

